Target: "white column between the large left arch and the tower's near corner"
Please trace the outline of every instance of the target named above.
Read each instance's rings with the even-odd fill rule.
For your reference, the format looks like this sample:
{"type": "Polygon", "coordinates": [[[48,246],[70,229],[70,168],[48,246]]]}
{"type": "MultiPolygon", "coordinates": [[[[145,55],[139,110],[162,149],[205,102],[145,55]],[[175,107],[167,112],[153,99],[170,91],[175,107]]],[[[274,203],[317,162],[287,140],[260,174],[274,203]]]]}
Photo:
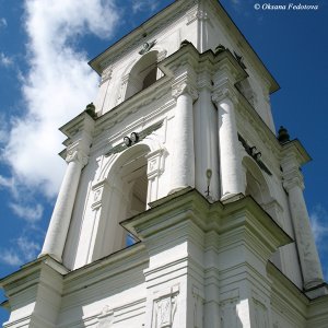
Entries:
{"type": "Polygon", "coordinates": [[[169,194],[188,186],[195,187],[192,103],[198,94],[195,87],[183,82],[173,86],[173,96],[176,98],[176,108],[169,194]]]}

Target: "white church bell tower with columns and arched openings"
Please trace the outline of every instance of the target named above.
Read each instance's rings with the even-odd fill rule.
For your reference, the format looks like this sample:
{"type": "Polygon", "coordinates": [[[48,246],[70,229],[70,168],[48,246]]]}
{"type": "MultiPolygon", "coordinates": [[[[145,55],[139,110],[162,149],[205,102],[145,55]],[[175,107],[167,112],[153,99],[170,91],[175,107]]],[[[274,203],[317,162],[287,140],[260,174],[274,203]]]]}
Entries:
{"type": "Polygon", "coordinates": [[[3,327],[328,327],[279,85],[215,0],[177,0],[90,61],[42,253],[3,327]]]}

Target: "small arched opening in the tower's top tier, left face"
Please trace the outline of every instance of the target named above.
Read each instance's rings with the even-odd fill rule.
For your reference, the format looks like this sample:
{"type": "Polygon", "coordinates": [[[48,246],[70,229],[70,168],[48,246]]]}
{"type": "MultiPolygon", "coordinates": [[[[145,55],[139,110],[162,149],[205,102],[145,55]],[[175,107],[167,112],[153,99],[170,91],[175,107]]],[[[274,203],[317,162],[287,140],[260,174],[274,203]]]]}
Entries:
{"type": "Polygon", "coordinates": [[[160,77],[157,55],[159,51],[150,51],[132,67],[129,73],[126,99],[156,82],[160,77]]]}

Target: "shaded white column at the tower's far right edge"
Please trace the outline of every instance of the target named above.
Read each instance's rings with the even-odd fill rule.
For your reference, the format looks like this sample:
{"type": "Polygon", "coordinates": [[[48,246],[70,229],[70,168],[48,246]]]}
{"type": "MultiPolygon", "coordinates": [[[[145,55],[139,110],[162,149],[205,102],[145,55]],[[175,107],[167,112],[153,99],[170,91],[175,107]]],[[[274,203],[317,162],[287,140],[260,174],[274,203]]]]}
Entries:
{"type": "Polygon", "coordinates": [[[304,289],[308,290],[321,284],[324,278],[303,196],[303,176],[300,172],[297,160],[293,155],[284,157],[281,166],[283,169],[283,186],[289,194],[289,204],[295,231],[304,289]]]}

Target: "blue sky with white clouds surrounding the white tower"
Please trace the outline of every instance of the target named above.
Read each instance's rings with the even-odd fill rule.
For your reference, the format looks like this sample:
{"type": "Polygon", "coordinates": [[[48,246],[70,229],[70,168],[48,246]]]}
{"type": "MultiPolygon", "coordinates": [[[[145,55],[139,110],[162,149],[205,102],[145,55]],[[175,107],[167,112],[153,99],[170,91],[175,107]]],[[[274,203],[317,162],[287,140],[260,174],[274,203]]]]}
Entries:
{"type": "MultiPolygon", "coordinates": [[[[58,128],[97,90],[86,62],[171,2],[0,0],[1,277],[40,250],[65,171],[58,128]]],[[[314,159],[303,168],[305,198],[327,279],[328,3],[306,1],[318,10],[255,10],[268,2],[221,2],[281,85],[271,97],[276,127],[288,127],[314,159]]],[[[5,319],[1,311],[0,323],[5,319]]]]}

